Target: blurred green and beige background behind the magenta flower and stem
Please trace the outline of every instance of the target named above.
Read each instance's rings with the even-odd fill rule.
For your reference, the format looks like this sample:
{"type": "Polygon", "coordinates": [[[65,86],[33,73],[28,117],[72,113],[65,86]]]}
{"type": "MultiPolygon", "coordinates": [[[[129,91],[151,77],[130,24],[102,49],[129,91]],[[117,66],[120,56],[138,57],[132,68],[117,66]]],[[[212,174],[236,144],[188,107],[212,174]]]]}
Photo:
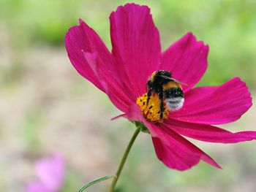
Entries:
{"type": "MultiPolygon", "coordinates": [[[[34,161],[52,151],[67,162],[63,192],[116,172],[132,124],[110,121],[118,110],[75,72],[64,34],[83,18],[110,48],[108,16],[127,2],[151,7],[163,50],[187,31],[210,46],[200,85],[239,76],[255,97],[256,1],[0,0],[0,191],[24,191],[35,178],[34,161]]],[[[222,127],[255,130],[255,112],[252,107],[241,120],[222,127]]],[[[256,142],[194,143],[224,169],[204,163],[187,172],[167,169],[150,137],[141,134],[118,191],[255,191],[256,142]]],[[[107,185],[88,191],[105,191],[107,185]]]]}

